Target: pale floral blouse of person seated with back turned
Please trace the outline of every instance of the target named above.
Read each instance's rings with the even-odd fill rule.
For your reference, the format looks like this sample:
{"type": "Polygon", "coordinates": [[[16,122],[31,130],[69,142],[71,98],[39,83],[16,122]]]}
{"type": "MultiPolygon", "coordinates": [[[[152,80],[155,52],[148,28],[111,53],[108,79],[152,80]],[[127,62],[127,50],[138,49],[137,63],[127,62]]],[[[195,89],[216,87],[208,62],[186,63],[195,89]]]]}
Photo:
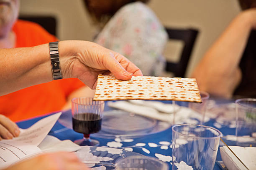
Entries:
{"type": "Polygon", "coordinates": [[[143,75],[159,76],[167,33],[154,12],[142,2],[123,6],[108,21],[95,42],[118,52],[137,65],[143,75]]]}

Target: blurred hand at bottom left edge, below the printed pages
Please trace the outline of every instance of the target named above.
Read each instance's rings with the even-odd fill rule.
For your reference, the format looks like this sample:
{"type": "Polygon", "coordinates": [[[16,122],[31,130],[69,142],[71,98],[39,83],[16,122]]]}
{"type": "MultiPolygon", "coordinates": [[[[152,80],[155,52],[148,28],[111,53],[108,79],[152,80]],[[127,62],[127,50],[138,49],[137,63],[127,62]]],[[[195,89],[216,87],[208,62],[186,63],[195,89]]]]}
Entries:
{"type": "Polygon", "coordinates": [[[45,153],[16,163],[5,170],[89,170],[74,153],[45,153]]]}

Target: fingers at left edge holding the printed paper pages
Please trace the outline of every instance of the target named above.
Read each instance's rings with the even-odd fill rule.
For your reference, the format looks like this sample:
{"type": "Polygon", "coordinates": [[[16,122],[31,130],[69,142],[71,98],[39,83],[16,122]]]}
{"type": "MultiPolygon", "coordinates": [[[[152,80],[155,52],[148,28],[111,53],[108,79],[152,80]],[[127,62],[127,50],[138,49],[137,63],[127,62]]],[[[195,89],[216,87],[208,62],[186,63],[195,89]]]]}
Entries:
{"type": "Polygon", "coordinates": [[[20,135],[20,130],[15,122],[11,121],[8,117],[0,115],[0,140],[12,139],[20,135]]]}

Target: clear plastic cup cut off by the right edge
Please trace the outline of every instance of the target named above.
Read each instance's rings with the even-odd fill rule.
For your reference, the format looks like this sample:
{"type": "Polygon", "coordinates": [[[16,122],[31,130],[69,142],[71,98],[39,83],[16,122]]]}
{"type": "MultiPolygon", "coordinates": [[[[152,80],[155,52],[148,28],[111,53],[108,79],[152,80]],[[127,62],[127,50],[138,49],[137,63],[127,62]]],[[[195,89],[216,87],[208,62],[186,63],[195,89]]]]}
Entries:
{"type": "Polygon", "coordinates": [[[236,100],[236,136],[256,133],[256,99],[236,100]]]}

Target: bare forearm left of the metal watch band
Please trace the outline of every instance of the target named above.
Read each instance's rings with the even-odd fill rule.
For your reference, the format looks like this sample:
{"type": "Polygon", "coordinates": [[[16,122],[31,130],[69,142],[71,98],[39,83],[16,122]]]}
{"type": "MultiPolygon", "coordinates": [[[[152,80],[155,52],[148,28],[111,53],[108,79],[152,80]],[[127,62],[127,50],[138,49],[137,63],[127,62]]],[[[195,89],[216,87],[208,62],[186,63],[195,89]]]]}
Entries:
{"type": "Polygon", "coordinates": [[[48,45],[0,49],[0,95],[52,80],[48,45]]]}

